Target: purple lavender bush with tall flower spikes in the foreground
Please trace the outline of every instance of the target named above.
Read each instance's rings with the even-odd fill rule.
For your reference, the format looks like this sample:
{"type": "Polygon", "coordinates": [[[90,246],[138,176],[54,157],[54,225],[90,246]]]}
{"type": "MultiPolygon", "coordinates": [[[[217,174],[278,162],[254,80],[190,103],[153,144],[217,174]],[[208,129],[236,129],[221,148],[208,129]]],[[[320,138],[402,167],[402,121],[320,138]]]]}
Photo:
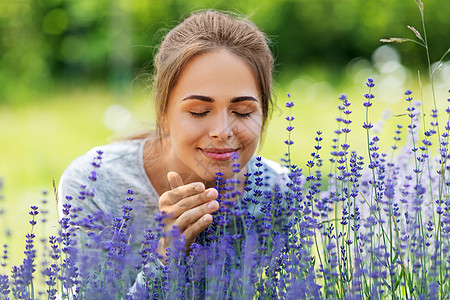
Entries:
{"type": "MultiPolygon", "coordinates": [[[[423,20],[423,4],[415,2],[423,20]]],[[[424,38],[410,29],[428,55],[424,23],[424,38]]],[[[431,83],[435,71],[430,67],[431,83]]],[[[433,96],[434,107],[425,116],[429,112],[421,111],[413,93],[404,92],[409,124],[398,125],[389,153],[383,153],[370,119],[375,82],[368,79],[366,87],[361,125],[367,152],[356,153],[348,143],[351,103],[341,95],[330,170],[324,175],[321,132],[305,168],[294,164],[294,102],[288,95],[282,161],[289,183],[263,189],[260,159],[258,171],[246,174],[242,195],[237,178],[217,174],[220,209],[189,252],[176,228],[162,230],[164,215],[156,217],[159,226],[145,232],[129,225],[133,191],[128,190],[120,216],[98,212],[81,218],[69,201],[58,236],[50,236],[47,253],[39,254],[46,257],[44,267],[37,270],[39,211],[31,207],[23,263],[9,268],[3,248],[0,298],[449,299],[450,107],[439,115],[433,96]],[[261,217],[249,209],[255,205],[261,217]],[[174,240],[167,258],[156,251],[165,234],[174,240]],[[36,272],[45,277],[45,287],[34,282],[36,272]],[[134,284],[136,278],[140,284],[134,284]]],[[[101,159],[98,152],[77,201],[95,197],[101,159]]],[[[236,172],[240,167],[233,164],[236,172]]]]}

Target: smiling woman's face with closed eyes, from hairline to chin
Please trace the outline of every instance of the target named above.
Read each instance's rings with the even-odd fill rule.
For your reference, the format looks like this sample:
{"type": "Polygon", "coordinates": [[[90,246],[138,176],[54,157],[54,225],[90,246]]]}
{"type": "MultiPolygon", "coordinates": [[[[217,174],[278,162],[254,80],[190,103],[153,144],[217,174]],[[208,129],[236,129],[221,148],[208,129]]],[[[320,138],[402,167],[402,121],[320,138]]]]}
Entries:
{"type": "Polygon", "coordinates": [[[226,51],[192,58],[169,95],[162,129],[168,134],[167,163],[185,181],[214,181],[233,175],[231,159],[242,167],[258,146],[261,95],[248,63],[226,51]]]}

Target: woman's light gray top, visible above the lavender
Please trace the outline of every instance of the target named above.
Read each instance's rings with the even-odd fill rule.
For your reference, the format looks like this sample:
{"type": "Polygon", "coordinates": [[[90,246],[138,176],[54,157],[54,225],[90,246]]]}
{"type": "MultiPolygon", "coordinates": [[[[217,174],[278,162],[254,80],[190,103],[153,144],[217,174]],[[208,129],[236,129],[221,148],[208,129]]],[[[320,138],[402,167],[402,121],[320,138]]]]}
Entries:
{"type": "MultiPolygon", "coordinates": [[[[83,210],[78,213],[79,217],[93,214],[101,210],[112,216],[122,215],[122,206],[127,202],[127,191],[133,190],[134,194],[131,206],[130,225],[137,226],[138,223],[143,229],[153,228],[154,217],[158,213],[159,195],[150,182],[144,168],[144,145],[146,139],[126,140],[104,146],[95,147],[86,154],[76,158],[64,171],[59,182],[59,203],[58,211],[62,216],[62,204],[66,203],[66,196],[72,196],[70,201],[74,207],[81,207],[83,210]],[[92,166],[94,158],[98,156],[97,151],[103,152],[100,168],[92,166]],[[91,172],[97,173],[97,180],[91,181],[91,172]],[[94,197],[87,197],[80,200],[79,194],[81,186],[85,185],[89,191],[94,191],[94,197]]],[[[97,161],[98,162],[98,161],[97,161]]],[[[256,157],[252,157],[247,164],[250,173],[256,172],[256,157]]],[[[271,160],[262,158],[261,171],[264,176],[264,186],[260,190],[271,190],[274,185],[285,188],[287,168],[271,160]]],[[[252,176],[253,177],[253,176],[252,176]]],[[[254,184],[254,178],[250,178],[254,184]]],[[[255,186],[252,186],[255,188],[255,186]]],[[[249,211],[253,211],[253,208],[249,211]]],[[[259,212],[259,209],[254,211],[259,212]]],[[[256,216],[255,216],[256,217],[256,216]]]]}

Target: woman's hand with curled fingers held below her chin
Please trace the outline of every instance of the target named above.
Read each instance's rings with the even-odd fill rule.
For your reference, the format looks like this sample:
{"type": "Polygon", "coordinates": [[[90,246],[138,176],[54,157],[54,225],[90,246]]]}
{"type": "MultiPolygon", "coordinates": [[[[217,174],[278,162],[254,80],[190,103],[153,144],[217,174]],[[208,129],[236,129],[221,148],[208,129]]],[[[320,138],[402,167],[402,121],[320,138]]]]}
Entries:
{"type": "Polygon", "coordinates": [[[170,190],[159,198],[159,211],[165,212],[164,219],[166,237],[159,243],[158,253],[166,257],[166,248],[171,241],[168,236],[174,226],[177,226],[186,240],[186,249],[194,242],[197,235],[212,222],[212,213],[219,209],[218,192],[214,188],[205,189],[201,182],[183,184],[180,175],[175,172],[167,174],[170,190]]]}

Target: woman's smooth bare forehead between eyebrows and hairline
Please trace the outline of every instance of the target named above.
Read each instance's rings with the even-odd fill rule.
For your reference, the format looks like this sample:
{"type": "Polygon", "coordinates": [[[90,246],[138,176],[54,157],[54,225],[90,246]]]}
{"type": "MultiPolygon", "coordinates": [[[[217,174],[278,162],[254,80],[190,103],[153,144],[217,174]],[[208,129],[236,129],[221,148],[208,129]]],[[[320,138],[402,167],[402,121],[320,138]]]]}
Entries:
{"type": "Polygon", "coordinates": [[[202,53],[187,62],[169,94],[168,105],[189,95],[203,95],[215,100],[251,96],[260,101],[261,98],[258,80],[250,65],[223,49],[202,53]]]}

